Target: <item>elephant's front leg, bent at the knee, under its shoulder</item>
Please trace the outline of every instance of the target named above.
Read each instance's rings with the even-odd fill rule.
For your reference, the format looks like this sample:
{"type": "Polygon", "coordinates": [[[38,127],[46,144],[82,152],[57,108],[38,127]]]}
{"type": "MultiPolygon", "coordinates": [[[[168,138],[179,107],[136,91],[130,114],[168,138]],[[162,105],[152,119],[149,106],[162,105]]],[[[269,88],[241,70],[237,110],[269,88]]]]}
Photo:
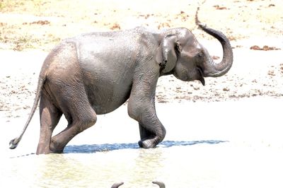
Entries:
{"type": "MultiPolygon", "coordinates": [[[[151,73],[154,74],[154,73],[151,73]]],[[[163,141],[166,129],[156,116],[155,89],[158,80],[156,75],[140,75],[134,80],[128,102],[129,116],[139,122],[141,148],[154,148],[163,141]],[[143,78],[144,76],[144,78],[143,78]]]]}

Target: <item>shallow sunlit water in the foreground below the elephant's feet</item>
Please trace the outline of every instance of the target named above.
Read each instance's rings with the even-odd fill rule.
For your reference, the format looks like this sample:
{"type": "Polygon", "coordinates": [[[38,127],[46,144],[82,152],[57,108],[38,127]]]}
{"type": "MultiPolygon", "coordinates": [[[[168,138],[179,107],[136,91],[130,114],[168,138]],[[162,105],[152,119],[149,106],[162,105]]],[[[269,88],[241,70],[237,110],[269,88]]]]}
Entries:
{"type": "Polygon", "coordinates": [[[1,187],[280,187],[282,148],[219,141],[69,146],[64,154],[24,155],[1,164],[1,187]]]}

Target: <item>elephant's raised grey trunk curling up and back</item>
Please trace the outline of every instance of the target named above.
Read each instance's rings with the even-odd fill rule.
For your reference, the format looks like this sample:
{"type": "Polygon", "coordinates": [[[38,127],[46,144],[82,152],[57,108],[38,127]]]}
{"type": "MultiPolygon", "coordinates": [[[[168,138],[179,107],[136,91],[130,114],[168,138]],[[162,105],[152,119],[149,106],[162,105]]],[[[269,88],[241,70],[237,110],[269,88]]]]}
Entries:
{"type": "Polygon", "coordinates": [[[208,57],[207,64],[204,65],[204,77],[218,77],[226,74],[233,64],[233,51],[229,39],[221,32],[207,28],[206,25],[199,24],[204,32],[216,37],[222,45],[223,58],[220,63],[215,63],[212,57],[208,57]]]}

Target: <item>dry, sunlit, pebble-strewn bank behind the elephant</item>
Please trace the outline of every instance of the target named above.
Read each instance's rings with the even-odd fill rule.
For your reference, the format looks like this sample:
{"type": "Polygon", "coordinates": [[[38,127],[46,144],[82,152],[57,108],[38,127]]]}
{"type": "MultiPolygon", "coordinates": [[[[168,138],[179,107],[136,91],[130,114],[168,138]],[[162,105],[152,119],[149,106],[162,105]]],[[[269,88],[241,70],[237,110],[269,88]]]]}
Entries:
{"type": "Polygon", "coordinates": [[[60,40],[101,30],[137,25],[154,29],[186,27],[221,60],[221,46],[195,26],[203,23],[231,40],[234,64],[221,78],[184,83],[173,76],[158,81],[158,102],[223,101],[283,97],[282,0],[229,1],[0,1],[0,111],[26,116],[35,97],[42,61],[60,40]]]}

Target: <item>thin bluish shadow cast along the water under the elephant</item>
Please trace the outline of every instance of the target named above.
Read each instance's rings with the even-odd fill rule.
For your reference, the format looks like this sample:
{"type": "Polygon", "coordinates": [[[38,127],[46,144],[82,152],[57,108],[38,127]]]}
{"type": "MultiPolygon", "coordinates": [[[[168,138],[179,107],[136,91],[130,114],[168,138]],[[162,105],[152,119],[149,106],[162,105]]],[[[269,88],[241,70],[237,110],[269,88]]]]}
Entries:
{"type": "MultiPolygon", "coordinates": [[[[195,144],[207,143],[216,144],[227,141],[163,141],[158,144],[158,147],[169,148],[173,146],[191,146],[195,144]]],[[[137,143],[104,143],[92,145],[71,145],[64,148],[64,153],[96,153],[102,151],[115,151],[120,149],[138,149],[137,143]]]]}

